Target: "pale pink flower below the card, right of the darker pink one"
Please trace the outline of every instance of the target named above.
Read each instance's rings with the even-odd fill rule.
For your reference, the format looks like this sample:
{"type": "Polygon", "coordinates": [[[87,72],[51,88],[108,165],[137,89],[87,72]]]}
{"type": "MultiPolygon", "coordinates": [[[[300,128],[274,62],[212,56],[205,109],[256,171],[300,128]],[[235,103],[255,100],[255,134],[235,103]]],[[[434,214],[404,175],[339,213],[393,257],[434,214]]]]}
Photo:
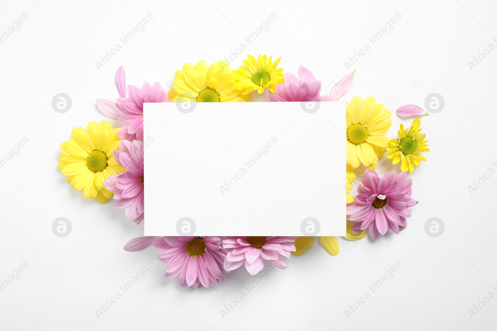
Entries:
{"type": "Polygon", "coordinates": [[[295,252],[294,241],[293,237],[227,237],[223,247],[233,250],[226,255],[224,268],[230,271],[245,263],[248,273],[254,275],[266,260],[276,269],[285,269],[283,257],[290,259],[290,252],[295,252]]]}

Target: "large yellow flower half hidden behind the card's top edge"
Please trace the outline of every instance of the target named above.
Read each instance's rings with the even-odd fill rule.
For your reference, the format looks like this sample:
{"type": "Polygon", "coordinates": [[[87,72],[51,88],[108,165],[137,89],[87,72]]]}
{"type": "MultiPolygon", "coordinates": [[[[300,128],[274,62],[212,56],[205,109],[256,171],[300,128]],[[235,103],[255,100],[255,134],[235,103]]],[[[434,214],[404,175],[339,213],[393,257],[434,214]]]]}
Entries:
{"type": "Polygon", "coordinates": [[[172,102],[244,102],[250,97],[242,96],[241,91],[235,89],[236,76],[231,73],[230,64],[226,61],[216,61],[207,67],[204,60],[195,66],[187,63],[182,70],[174,73],[172,88],[167,98],[172,102]],[[194,100],[193,100],[194,99],[194,100]]]}

